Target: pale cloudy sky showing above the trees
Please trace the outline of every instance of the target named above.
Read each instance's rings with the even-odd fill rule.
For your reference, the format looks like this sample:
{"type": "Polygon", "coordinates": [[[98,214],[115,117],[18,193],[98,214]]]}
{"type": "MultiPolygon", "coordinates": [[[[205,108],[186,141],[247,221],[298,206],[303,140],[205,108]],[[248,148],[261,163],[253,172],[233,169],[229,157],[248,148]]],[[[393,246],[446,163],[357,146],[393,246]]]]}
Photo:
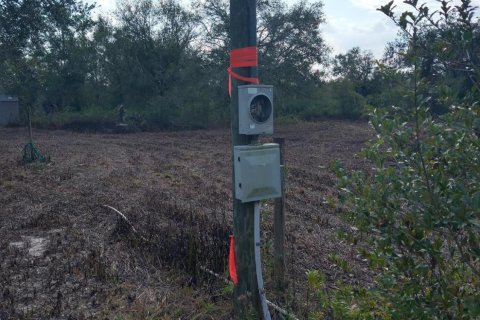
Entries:
{"type": "MultiPolygon", "coordinates": [[[[289,4],[295,0],[285,0],[289,4]]],[[[116,0],[96,0],[100,11],[115,9],[116,0]]],[[[188,0],[182,0],[188,3],[188,0]]],[[[388,0],[323,0],[326,23],[321,26],[322,34],[333,54],[345,53],[353,47],[371,51],[381,58],[388,42],[395,40],[398,28],[383,13],[376,11],[388,0]]],[[[435,0],[428,0],[435,3],[435,0]]],[[[405,9],[397,0],[397,10],[405,9]]],[[[480,0],[472,4],[480,7],[480,0]]]]}

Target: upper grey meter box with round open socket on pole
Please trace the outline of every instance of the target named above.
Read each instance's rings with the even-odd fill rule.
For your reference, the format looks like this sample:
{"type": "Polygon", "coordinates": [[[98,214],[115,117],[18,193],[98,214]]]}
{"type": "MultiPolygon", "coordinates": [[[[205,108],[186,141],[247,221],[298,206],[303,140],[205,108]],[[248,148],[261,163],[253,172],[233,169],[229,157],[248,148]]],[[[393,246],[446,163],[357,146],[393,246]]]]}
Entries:
{"type": "Polygon", "coordinates": [[[240,134],[273,134],[273,86],[238,86],[240,134]]]}

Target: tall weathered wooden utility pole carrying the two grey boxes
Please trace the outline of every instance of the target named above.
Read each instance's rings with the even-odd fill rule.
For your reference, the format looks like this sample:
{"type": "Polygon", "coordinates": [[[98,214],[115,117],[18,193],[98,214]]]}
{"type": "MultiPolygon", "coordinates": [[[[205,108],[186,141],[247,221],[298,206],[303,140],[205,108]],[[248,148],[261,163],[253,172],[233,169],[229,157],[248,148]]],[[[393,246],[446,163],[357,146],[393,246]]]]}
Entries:
{"type": "MultiPolygon", "coordinates": [[[[256,0],[230,0],[230,45],[231,49],[257,45],[256,0]]],[[[233,72],[244,77],[257,77],[257,67],[233,68],[233,72]]],[[[232,194],[233,234],[235,237],[235,259],[238,284],[235,286],[235,319],[260,318],[260,298],[255,271],[254,254],[254,203],[242,203],[235,199],[235,175],[233,173],[233,146],[254,144],[258,136],[239,134],[238,128],[238,85],[248,84],[232,77],[231,135],[232,135],[232,194]]]]}

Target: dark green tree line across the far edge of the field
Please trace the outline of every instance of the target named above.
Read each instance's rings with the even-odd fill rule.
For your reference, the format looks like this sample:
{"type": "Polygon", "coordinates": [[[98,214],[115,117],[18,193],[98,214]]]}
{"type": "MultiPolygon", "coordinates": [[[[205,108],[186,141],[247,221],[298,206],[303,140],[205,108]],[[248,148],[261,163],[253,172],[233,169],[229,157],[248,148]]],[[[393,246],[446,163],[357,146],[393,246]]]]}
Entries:
{"type": "MultiPolygon", "coordinates": [[[[120,105],[142,129],[225,125],[228,6],[122,0],[109,15],[95,15],[94,4],[79,0],[0,0],[0,91],[17,94],[53,126],[112,122],[120,105]]],[[[398,103],[409,90],[411,50],[421,55],[426,79],[443,84],[429,92],[435,112],[469,92],[471,75],[439,59],[460,50],[478,59],[478,24],[463,47],[439,51],[459,32],[452,25],[419,32],[417,48],[399,37],[376,60],[361,48],[331,55],[321,1],[260,0],[257,7],[259,78],[274,85],[280,119],[355,119],[369,106],[398,103]]]]}

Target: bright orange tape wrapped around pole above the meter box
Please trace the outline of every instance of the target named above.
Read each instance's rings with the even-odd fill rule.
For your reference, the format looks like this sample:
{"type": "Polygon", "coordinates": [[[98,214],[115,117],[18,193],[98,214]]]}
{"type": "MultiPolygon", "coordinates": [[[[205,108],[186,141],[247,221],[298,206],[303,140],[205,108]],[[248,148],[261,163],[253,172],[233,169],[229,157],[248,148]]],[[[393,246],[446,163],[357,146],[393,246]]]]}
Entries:
{"type": "Polygon", "coordinates": [[[259,84],[258,78],[242,77],[232,68],[256,67],[258,65],[257,47],[245,47],[230,50],[230,67],[228,67],[228,94],[232,96],[232,77],[237,80],[259,84]]]}

